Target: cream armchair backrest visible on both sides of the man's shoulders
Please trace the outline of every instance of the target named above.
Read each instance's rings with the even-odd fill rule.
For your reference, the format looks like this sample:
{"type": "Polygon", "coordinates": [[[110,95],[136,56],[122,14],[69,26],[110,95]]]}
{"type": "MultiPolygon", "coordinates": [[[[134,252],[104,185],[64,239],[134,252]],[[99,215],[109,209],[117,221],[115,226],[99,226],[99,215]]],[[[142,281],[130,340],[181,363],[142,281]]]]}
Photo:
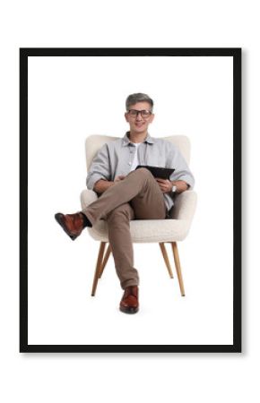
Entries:
{"type": "MultiPolygon", "coordinates": [[[[85,141],[87,169],[91,167],[92,159],[95,157],[95,155],[100,150],[102,145],[108,141],[117,140],[118,138],[119,137],[104,136],[100,134],[93,134],[87,137],[85,141]]],[[[188,137],[184,135],[176,135],[176,136],[162,137],[162,139],[173,142],[173,144],[178,148],[183,157],[186,159],[186,162],[189,163],[190,141],[188,137]]]]}

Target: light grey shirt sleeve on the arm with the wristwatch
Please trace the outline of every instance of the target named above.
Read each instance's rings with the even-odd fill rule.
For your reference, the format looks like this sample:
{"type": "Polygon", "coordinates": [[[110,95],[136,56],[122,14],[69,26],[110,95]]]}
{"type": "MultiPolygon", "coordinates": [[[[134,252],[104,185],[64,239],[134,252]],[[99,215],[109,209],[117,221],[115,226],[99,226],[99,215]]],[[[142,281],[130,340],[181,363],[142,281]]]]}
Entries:
{"type": "Polygon", "coordinates": [[[171,159],[171,166],[175,168],[175,171],[169,176],[169,180],[185,181],[192,189],[195,185],[195,177],[191,173],[186,160],[176,147],[170,151],[169,159],[171,159]]]}

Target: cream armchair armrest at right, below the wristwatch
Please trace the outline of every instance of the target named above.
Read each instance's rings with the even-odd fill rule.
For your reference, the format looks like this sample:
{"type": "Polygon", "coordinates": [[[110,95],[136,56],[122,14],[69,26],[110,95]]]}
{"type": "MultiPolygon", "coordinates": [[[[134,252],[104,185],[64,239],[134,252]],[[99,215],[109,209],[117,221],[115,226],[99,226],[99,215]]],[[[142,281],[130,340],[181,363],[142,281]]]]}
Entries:
{"type": "Polygon", "coordinates": [[[197,201],[195,191],[186,191],[176,195],[173,208],[173,219],[192,221],[197,201]]]}

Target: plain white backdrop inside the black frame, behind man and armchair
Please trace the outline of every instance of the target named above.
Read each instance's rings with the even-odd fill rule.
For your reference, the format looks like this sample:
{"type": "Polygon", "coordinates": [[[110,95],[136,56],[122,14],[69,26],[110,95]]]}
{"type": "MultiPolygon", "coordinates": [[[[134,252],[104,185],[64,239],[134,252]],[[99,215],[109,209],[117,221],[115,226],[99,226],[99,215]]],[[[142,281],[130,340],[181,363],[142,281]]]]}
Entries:
{"type": "Polygon", "coordinates": [[[28,98],[29,344],[232,344],[232,57],[30,57],[28,98]],[[189,136],[198,208],[179,244],[186,298],[159,245],[136,244],[141,310],[129,318],[113,259],[93,301],[99,243],[86,231],[72,243],[54,213],[80,210],[85,137],[123,136],[138,89],[155,101],[152,135],[189,136]]]}

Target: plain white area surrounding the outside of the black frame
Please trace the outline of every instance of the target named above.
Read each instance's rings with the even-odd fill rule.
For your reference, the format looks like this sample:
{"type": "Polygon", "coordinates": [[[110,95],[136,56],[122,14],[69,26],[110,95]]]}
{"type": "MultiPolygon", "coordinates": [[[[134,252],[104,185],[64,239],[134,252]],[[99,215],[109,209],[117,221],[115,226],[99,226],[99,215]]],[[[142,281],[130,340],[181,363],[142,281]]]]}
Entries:
{"type": "MultiPolygon", "coordinates": [[[[8,5],[1,4],[3,401],[219,402],[234,399],[242,402],[247,399],[248,391],[254,399],[259,399],[259,213],[256,209],[259,205],[260,60],[256,4],[255,1],[183,1],[181,4],[161,1],[160,5],[151,1],[131,4],[10,1],[8,5]],[[243,47],[242,355],[19,354],[19,47],[243,47]]],[[[220,184],[225,186],[225,180],[221,179],[220,184]]],[[[63,200],[67,201],[64,197],[63,200]]],[[[190,273],[186,273],[186,280],[189,278],[190,273]]],[[[100,287],[99,298],[101,291],[100,287]]],[[[97,299],[94,301],[96,304],[97,299]]],[[[113,308],[114,304],[110,306],[113,308]]]]}

